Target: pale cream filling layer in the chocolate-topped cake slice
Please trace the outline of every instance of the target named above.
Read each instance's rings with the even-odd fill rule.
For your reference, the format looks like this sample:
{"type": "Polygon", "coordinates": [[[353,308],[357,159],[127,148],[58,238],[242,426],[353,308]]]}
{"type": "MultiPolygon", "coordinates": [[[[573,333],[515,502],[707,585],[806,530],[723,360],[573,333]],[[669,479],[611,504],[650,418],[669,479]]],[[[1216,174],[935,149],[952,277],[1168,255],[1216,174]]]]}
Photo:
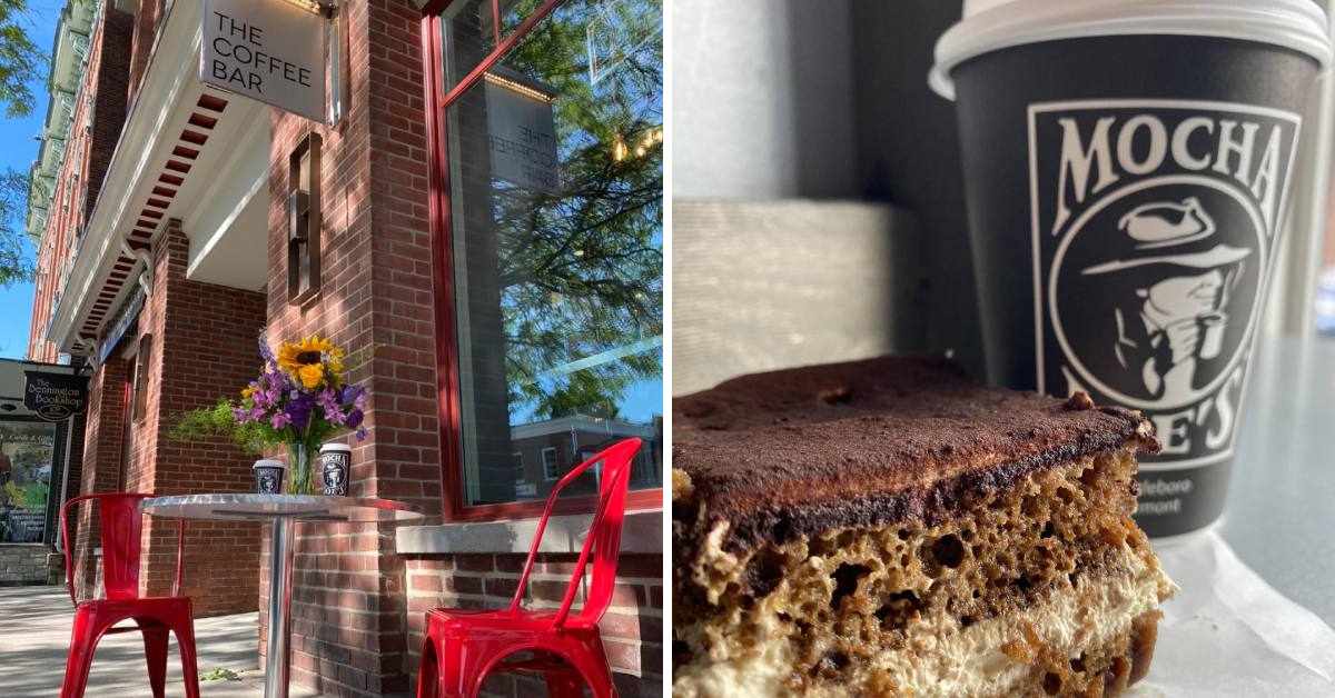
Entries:
{"type": "MultiPolygon", "coordinates": [[[[900,693],[913,697],[1004,695],[1025,681],[1028,665],[1011,659],[1001,647],[1024,642],[1021,621],[1053,647],[1071,657],[1100,647],[1127,633],[1139,615],[1153,610],[1172,594],[1173,583],[1152,559],[1124,549],[1123,571],[1087,579],[1079,590],[1059,590],[1019,615],[1004,615],[961,627],[944,617],[937,623],[909,629],[906,647],[881,653],[858,674],[882,674],[900,693]]],[[[728,661],[708,658],[681,667],[673,682],[676,698],[764,697],[789,693],[793,650],[789,626],[772,613],[765,618],[754,651],[728,661]]],[[[858,694],[860,686],[817,686],[820,697],[858,694]]]]}

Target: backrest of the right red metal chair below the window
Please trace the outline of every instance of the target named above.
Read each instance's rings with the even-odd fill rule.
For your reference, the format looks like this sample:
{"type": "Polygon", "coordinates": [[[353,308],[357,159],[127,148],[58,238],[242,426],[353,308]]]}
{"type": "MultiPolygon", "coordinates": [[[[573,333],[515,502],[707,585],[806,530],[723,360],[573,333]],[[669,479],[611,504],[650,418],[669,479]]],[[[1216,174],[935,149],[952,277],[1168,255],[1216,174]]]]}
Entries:
{"type": "Polygon", "coordinates": [[[630,467],[635,452],[639,451],[639,439],[617,442],[571,468],[551,488],[551,494],[547,495],[547,504],[542,511],[542,518],[538,519],[538,530],[534,531],[533,545],[529,549],[529,561],[523,566],[518,589],[515,590],[514,599],[510,602],[511,611],[518,611],[523,602],[525,590],[529,585],[529,573],[533,571],[533,563],[538,558],[538,546],[542,545],[542,534],[547,530],[547,519],[551,518],[551,508],[557,503],[557,496],[565,486],[598,463],[602,463],[598,506],[594,508],[589,535],[585,539],[583,549],[579,551],[579,559],[570,575],[570,585],[566,587],[565,598],[561,601],[561,610],[557,611],[553,625],[561,627],[570,615],[570,606],[579,591],[579,583],[583,581],[590,557],[593,558],[593,577],[590,579],[589,595],[585,599],[583,609],[579,610],[579,618],[587,623],[597,623],[602,618],[602,614],[607,611],[607,606],[611,605],[611,593],[617,583],[617,558],[621,554],[621,525],[626,515],[626,490],[630,486],[630,467]]]}

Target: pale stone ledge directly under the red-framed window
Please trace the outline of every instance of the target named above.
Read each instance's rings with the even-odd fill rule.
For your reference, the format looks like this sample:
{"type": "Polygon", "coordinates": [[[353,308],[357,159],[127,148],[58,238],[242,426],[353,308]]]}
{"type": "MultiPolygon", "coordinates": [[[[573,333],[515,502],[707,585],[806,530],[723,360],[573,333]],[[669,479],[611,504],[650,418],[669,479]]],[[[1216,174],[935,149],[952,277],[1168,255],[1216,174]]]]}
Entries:
{"type": "MultiPolygon", "coordinates": [[[[551,516],[542,537],[542,553],[578,553],[589,530],[589,514],[551,516]]],[[[450,555],[457,553],[527,553],[537,519],[446,523],[442,526],[400,526],[395,534],[400,555],[450,555]]],[[[662,554],[663,512],[661,508],[626,514],[621,531],[621,551],[662,554]]]]}

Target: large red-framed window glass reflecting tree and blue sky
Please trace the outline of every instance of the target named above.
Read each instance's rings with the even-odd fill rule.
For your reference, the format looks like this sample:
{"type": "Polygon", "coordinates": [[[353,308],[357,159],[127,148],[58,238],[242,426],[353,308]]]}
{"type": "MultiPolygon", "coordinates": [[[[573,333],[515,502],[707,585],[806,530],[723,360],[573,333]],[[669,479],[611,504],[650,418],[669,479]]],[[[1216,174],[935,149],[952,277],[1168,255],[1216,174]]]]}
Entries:
{"type": "MultiPolygon", "coordinates": [[[[502,40],[539,5],[502,3],[502,40]]],[[[445,93],[494,48],[493,12],[442,16],[445,93]]],[[[626,436],[631,488],[661,487],[661,3],[563,3],[443,129],[462,503],[542,499],[626,436]]]]}

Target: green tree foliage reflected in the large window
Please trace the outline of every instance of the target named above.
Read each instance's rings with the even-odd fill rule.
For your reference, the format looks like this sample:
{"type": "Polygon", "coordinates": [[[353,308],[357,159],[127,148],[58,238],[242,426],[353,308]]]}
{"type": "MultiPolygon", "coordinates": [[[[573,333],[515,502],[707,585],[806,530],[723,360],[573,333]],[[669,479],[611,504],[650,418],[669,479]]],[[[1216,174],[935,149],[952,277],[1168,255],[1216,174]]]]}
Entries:
{"type": "Polygon", "coordinates": [[[557,95],[561,160],[558,192],[495,183],[493,196],[511,410],[614,416],[626,388],[661,375],[658,351],[546,374],[662,334],[662,144],[646,140],[662,124],[661,16],[659,0],[571,0],[505,59],[557,95]],[[630,39],[593,83],[589,20],[599,13],[630,39]],[[629,156],[613,156],[617,143],[629,156]]]}

